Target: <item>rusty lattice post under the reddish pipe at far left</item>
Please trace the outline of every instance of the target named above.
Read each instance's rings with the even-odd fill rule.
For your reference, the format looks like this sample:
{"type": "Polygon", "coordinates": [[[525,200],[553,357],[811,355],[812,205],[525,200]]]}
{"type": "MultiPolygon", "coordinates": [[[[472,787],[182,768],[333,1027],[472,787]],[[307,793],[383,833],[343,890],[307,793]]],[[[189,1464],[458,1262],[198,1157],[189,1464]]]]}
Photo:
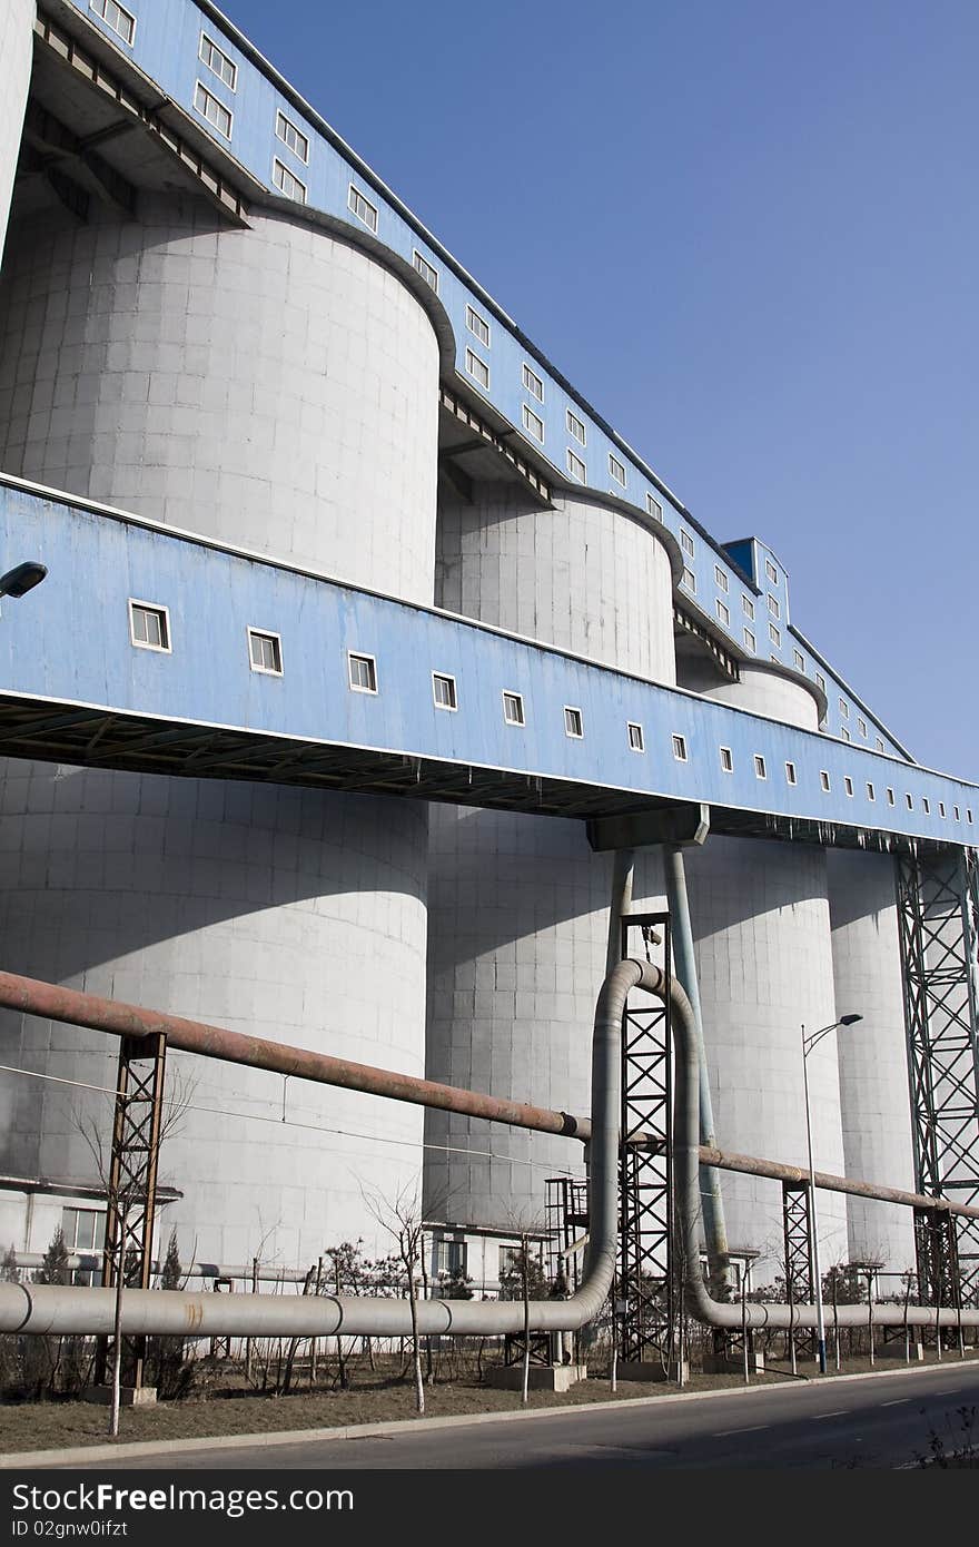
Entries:
{"type": "MultiPolygon", "coordinates": [[[[162,1033],[122,1038],[107,1187],[105,1289],[116,1287],[119,1273],[124,1289],[150,1287],[165,1064],[167,1038],[162,1033]]],[[[124,1338],[124,1386],[142,1385],[144,1361],[145,1338],[124,1338]]],[[[96,1381],[105,1383],[110,1368],[111,1338],[102,1338],[96,1381]]]]}

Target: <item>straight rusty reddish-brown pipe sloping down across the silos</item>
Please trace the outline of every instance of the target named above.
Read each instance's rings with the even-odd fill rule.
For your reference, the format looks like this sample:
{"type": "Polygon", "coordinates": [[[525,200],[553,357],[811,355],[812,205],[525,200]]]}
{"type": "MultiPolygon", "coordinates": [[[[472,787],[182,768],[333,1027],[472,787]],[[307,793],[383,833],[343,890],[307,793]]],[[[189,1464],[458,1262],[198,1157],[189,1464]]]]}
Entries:
{"type": "MultiPolygon", "coordinates": [[[[414,1075],[394,1074],[373,1064],[351,1063],[333,1058],[288,1043],[272,1043],[260,1036],[243,1036],[204,1021],[187,1021],[165,1010],[147,1010],[121,999],[104,999],[77,989],[60,989],[57,984],[37,978],[22,978],[17,973],[0,972],[0,1007],[19,1010],[23,1015],[40,1015],[51,1021],[67,1021],[70,1026],[85,1026],[94,1032],[113,1036],[158,1036],[161,1032],[170,1047],[181,1052],[203,1054],[224,1063],[249,1064],[254,1069],[269,1069],[274,1074],[311,1080],[316,1084],[339,1084],[348,1091],[363,1091],[368,1095],[387,1097],[393,1101],[408,1101],[414,1106],[436,1106],[464,1117],[483,1117],[509,1128],[529,1128],[540,1134],[561,1134],[568,1139],[591,1139],[591,1118],[574,1112],[555,1112],[544,1106],[529,1106],[524,1101],[507,1101],[495,1095],[483,1095],[461,1086],[438,1084],[435,1080],[418,1080],[414,1075]]],[[[636,1134],[633,1143],[643,1148],[662,1148],[662,1139],[636,1134]]],[[[721,1171],[742,1171],[750,1176],[766,1176],[776,1182],[804,1183],[809,1173],[800,1166],[778,1160],[762,1160],[756,1156],[732,1154],[724,1149],[701,1145],[701,1165],[718,1166],[721,1171]]],[[[934,1208],[965,1219],[979,1219],[979,1207],[953,1204],[947,1197],[926,1197],[922,1193],[905,1193],[900,1188],[883,1187],[880,1182],[860,1182],[827,1171],[815,1173],[817,1188],[829,1193],[851,1193],[857,1197],[872,1197],[888,1204],[903,1204],[908,1208],[934,1208]]]]}

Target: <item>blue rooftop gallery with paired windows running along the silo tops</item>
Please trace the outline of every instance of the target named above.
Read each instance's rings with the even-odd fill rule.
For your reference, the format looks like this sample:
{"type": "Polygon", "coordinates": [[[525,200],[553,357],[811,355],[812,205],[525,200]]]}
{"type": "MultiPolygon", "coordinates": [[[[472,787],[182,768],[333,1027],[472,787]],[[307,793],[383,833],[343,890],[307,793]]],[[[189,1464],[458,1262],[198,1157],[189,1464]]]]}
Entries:
{"type": "MultiPolygon", "coordinates": [[[[337,136],[331,138],[326,131],[326,125],[323,125],[322,130],[312,127],[302,107],[295,105],[298,97],[289,94],[288,90],[280,88],[280,85],[272,79],[268,67],[263,68],[257,59],[252,57],[246,40],[234,26],[230,26],[230,23],[213,20],[209,9],[196,5],[195,0],[153,0],[152,5],[148,0],[130,0],[128,8],[136,12],[138,25],[135,43],[128,48],[111,28],[94,15],[90,9],[88,0],[70,0],[70,3],[74,5],[74,8],[114,46],[118,46],[122,54],[131,57],[147,76],[159,82],[161,88],[176,104],[179,104],[195,119],[195,122],[215,139],[215,142],[218,142],[224,150],[230,150],[235,159],[260,183],[264,183],[272,193],[278,195],[272,181],[272,162],[275,156],[278,156],[305,184],[306,204],[311,209],[323,210],[360,229],[357,218],[348,207],[350,184],[353,181],[377,207],[377,238],[407,263],[413,261],[413,252],[418,249],[438,271],[438,294],[445,306],[456,339],[456,368],[470,388],[483,393],[493,404],[493,407],[506,416],[517,432],[524,436],[534,453],[549,461],[563,476],[568,476],[566,452],[571,449],[588,469],[588,487],[602,493],[611,492],[619,498],[625,498],[643,514],[646,514],[648,509],[646,497],[653,495],[662,507],[665,524],[674,537],[679,534],[679,528],[682,524],[679,511],[663,493],[659,492],[650,478],[648,470],[640,466],[639,458],[631,456],[626,450],[623,450],[623,447],[606,433],[606,429],[594,418],[594,415],[585,408],[583,402],[572,396],[566,387],[555,379],[554,373],[546,367],[543,359],[526,342],[517,337],[512,325],[506,320],[506,314],[489,297],[479,294],[475,285],[467,283],[464,271],[455,263],[455,260],[452,260],[445,249],[442,249],[435,238],[427,237],[421,224],[414,221],[413,217],[407,218],[407,213],[402,213],[402,210],[396,209],[394,204],[385,198],[382,184],[374,179],[373,173],[365,173],[353,166],[353,162],[337,147],[337,136]],[[238,79],[235,91],[230,91],[230,88],[227,88],[207,70],[206,65],[201,63],[201,29],[204,29],[207,36],[212,37],[237,63],[238,79]],[[195,111],[193,96],[198,80],[201,80],[215,97],[232,110],[234,125],[230,144],[217,128],[213,128],[213,125],[206,122],[201,114],[195,111]],[[278,108],[281,108],[288,118],[297,122],[298,127],[309,135],[311,155],[308,166],[292,156],[283,142],[277,139],[275,114],[278,108]],[[466,311],[469,305],[473,305],[475,309],[490,322],[492,339],[489,348],[478,343],[467,331],[466,311]],[[475,353],[489,365],[490,382],[486,390],[466,371],[467,348],[473,348],[475,353]],[[529,398],[523,390],[521,367],[524,359],[530,362],[532,368],[544,381],[543,404],[529,398]],[[544,421],[543,444],[524,430],[524,402],[527,402],[534,413],[544,421]],[[582,446],[568,435],[568,407],[571,407],[572,412],[586,424],[588,446],[585,449],[582,449],[582,446]],[[614,455],[626,469],[625,489],[616,483],[609,473],[609,455],[614,455]]],[[[759,585],[762,585],[762,588],[764,552],[766,549],[762,549],[759,563],[759,585]]],[[[738,555],[735,557],[738,558],[738,555]]],[[[721,628],[730,634],[733,642],[739,648],[744,648],[744,619],[739,614],[741,603],[738,589],[741,586],[741,580],[728,568],[724,549],[716,545],[713,538],[705,541],[698,534],[696,554],[687,562],[696,575],[696,599],[693,605],[699,608],[707,619],[710,619],[715,628],[721,628]],[[721,568],[728,574],[730,594],[718,589],[715,582],[715,565],[721,565],[721,568]],[[730,608],[730,627],[725,625],[722,617],[718,614],[718,600],[722,600],[730,608]]],[[[738,558],[738,562],[741,560],[738,558]]],[[[753,572],[753,566],[750,563],[745,562],[744,568],[749,569],[749,572],[753,572]]],[[[795,664],[793,651],[801,647],[801,642],[789,633],[787,586],[784,585],[784,571],[781,569],[781,565],[778,565],[778,569],[781,603],[781,620],[778,622],[778,628],[781,631],[781,640],[775,644],[770,639],[769,620],[761,614],[758,617],[755,634],[758,639],[759,659],[767,661],[773,656],[779,662],[790,667],[795,664]]],[[[806,671],[807,674],[812,674],[814,668],[807,648],[803,648],[803,656],[806,659],[806,671]]],[[[824,674],[829,674],[829,671],[831,668],[824,667],[824,674]]],[[[831,701],[834,696],[840,696],[840,693],[846,699],[851,710],[848,721],[848,724],[854,726],[851,733],[855,733],[857,715],[863,713],[865,718],[872,721],[874,736],[880,735],[885,739],[888,750],[900,755],[902,749],[892,743],[883,726],[874,721],[872,715],[857,704],[846,685],[843,682],[832,684],[831,701]]]]}

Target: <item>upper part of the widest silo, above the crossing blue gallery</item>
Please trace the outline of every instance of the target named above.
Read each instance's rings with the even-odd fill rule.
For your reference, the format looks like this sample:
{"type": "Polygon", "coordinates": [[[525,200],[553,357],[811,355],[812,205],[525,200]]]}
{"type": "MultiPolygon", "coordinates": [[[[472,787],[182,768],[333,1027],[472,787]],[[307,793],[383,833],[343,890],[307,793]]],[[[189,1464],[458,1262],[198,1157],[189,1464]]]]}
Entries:
{"type": "Polygon", "coordinates": [[[139,213],[11,240],[0,466],[432,602],[438,343],[416,297],[285,218],[139,213]]]}

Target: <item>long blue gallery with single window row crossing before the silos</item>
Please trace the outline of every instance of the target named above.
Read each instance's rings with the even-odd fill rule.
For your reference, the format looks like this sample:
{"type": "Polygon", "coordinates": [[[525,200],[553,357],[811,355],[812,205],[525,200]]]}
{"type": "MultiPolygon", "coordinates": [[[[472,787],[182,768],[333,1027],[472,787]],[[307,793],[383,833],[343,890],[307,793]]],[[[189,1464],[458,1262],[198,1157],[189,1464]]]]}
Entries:
{"type": "Polygon", "coordinates": [[[838,823],[962,845],[976,840],[974,784],[433,608],[17,484],[0,487],[0,535],[9,563],[29,555],[49,569],[39,591],[3,605],[3,693],[507,769],[629,791],[637,798],[701,800],[821,820],[827,828],[838,823]],[[169,608],[170,653],[130,642],[133,597],[169,608]],[[249,627],[281,636],[281,678],[251,670],[249,627]],[[376,657],[376,695],[351,692],[351,650],[376,657]],[[432,671],[456,678],[458,712],[435,707],[432,671]],[[524,696],[523,727],[504,722],[504,690],[524,696]],[[582,739],[565,733],[565,705],[582,710],[582,739]],[[629,749],[629,721],[643,727],[643,753],[629,749]],[[676,735],[685,739],[685,761],[673,753],[676,735]],[[733,755],[730,774],[721,766],[722,746],[733,755]],[[766,778],[756,775],[756,755],[766,760],[766,778]],[[786,763],[795,764],[797,784],[787,781],[786,763]],[[829,791],[821,787],[821,770],[829,791]]]}

